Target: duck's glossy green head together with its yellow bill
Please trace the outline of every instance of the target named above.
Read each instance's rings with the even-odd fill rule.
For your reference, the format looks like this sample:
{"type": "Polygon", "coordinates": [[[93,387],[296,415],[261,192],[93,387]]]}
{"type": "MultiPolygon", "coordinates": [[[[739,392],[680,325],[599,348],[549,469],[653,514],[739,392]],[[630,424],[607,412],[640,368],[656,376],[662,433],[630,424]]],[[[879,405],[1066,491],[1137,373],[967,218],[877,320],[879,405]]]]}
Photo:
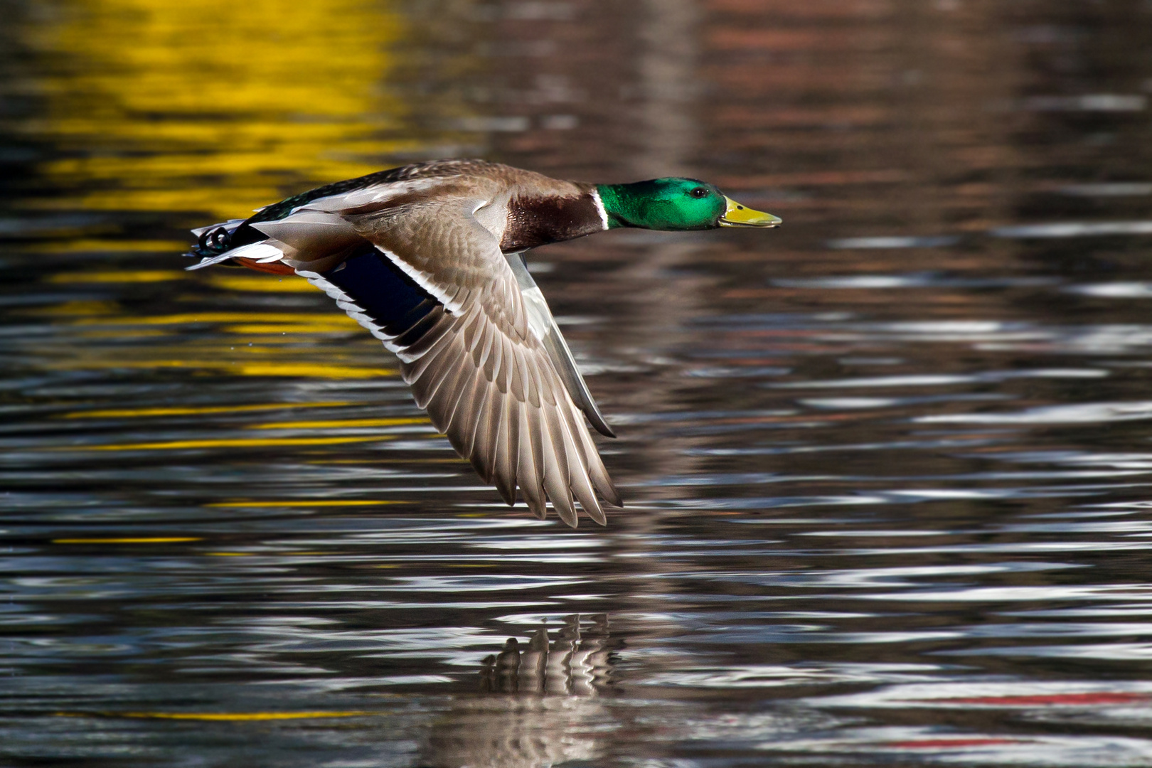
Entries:
{"type": "Polygon", "coordinates": [[[632,184],[599,184],[608,228],[715,229],[779,227],[780,219],[725,197],[695,178],[653,178],[632,184]]]}

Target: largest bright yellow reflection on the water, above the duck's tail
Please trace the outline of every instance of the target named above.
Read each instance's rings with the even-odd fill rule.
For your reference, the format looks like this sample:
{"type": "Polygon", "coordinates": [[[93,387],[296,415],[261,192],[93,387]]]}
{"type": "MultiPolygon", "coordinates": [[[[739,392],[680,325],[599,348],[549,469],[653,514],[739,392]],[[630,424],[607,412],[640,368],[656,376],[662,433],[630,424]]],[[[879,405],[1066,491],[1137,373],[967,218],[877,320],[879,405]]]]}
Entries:
{"type": "Polygon", "coordinates": [[[76,0],[39,30],[67,56],[28,129],[76,154],[41,168],[89,191],[53,205],[244,215],[296,180],[411,150],[382,88],[404,33],[389,0],[76,0]]]}

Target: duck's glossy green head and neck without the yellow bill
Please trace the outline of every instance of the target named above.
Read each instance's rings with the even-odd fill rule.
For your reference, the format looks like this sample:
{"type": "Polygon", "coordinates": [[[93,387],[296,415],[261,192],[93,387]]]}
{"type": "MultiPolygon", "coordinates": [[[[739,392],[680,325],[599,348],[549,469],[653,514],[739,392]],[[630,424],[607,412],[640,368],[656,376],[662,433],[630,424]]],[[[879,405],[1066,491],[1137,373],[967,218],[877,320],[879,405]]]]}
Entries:
{"type": "Polygon", "coordinates": [[[712,229],[723,215],[723,196],[694,178],[653,178],[631,184],[598,184],[608,215],[608,229],[712,229]],[[695,197],[690,190],[706,189],[695,197]]]}

